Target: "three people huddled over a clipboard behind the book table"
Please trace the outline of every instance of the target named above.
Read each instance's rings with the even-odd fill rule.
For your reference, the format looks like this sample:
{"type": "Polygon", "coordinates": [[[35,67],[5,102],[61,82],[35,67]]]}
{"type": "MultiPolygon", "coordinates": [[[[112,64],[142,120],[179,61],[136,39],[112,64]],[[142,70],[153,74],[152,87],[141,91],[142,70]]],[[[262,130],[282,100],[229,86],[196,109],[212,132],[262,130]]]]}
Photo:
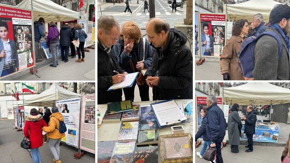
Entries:
{"type": "MultiPolygon", "coordinates": [[[[113,16],[98,19],[98,104],[122,101],[122,89],[107,91],[128,73],[146,70],[138,88],[142,101],[193,98],[193,57],[185,45],[186,34],[160,18],[149,19],[148,39],[134,21],[122,27],[113,16]],[[144,48],[145,47],[145,48],[144,48]],[[118,73],[114,73],[118,72],[118,73]]],[[[124,88],[125,99],[134,100],[134,88],[124,88]]]]}

